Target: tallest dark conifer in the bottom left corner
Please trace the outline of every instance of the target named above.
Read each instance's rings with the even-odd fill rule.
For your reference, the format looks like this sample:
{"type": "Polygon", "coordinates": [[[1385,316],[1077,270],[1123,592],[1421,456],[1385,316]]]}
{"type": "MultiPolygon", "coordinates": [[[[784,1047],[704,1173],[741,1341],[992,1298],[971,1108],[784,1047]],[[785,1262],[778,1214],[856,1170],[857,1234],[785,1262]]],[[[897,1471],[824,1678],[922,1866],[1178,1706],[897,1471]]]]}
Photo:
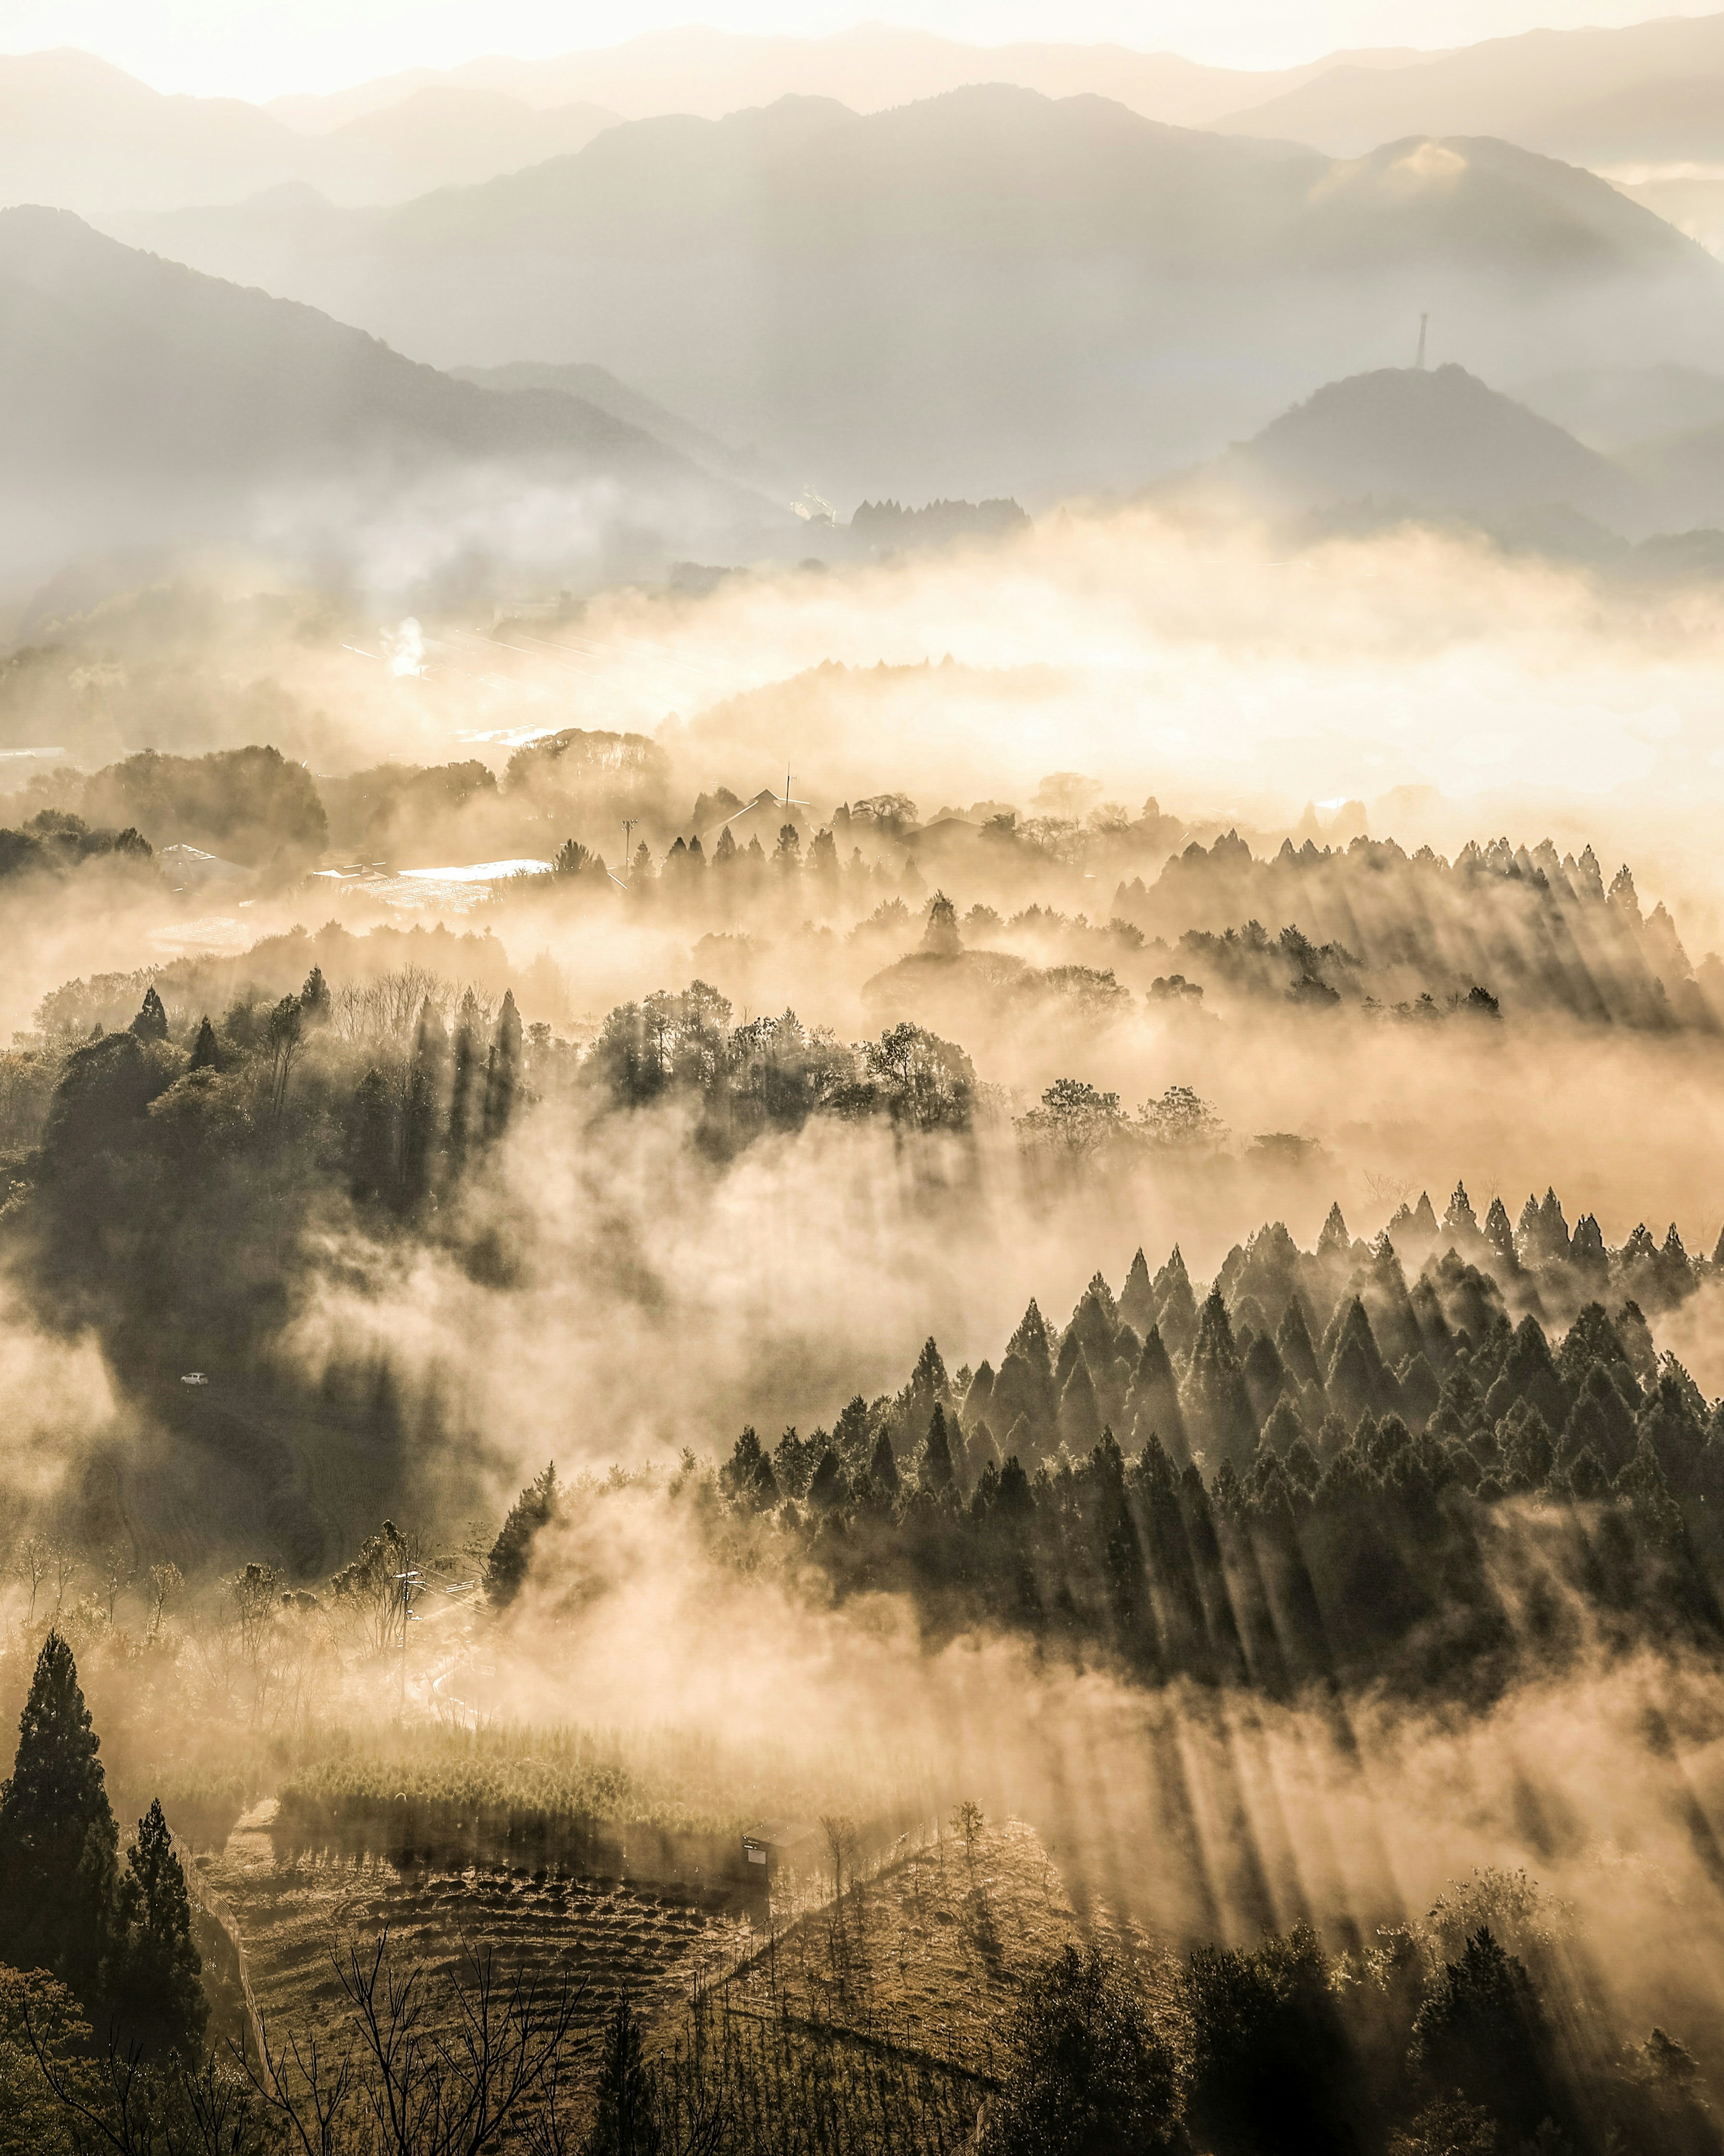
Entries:
{"type": "Polygon", "coordinates": [[[0,1787],[0,1962],[45,1968],[93,2016],[119,1884],[99,1751],[71,1647],[50,1632],[0,1787]]]}

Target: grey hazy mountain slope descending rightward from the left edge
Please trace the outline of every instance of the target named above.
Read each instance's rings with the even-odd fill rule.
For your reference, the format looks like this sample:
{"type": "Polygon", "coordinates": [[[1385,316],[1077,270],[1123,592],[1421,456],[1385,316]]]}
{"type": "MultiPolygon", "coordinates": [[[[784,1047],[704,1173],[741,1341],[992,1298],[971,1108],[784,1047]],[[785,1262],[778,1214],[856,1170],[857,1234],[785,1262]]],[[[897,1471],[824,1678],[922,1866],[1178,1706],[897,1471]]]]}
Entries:
{"type": "Polygon", "coordinates": [[[11,543],[32,561],[80,537],[244,530],[263,494],[379,500],[463,468],[603,485],[625,513],[703,533],[771,522],[597,405],[453,382],[56,209],[0,211],[0,466],[11,543]]]}

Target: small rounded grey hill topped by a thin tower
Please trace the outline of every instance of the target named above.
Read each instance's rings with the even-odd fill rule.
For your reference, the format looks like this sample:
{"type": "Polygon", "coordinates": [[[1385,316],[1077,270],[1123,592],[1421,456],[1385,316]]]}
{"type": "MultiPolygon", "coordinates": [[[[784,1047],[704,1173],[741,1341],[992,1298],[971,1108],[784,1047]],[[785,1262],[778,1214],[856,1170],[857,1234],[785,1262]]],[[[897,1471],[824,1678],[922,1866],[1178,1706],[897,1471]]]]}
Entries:
{"type": "Polygon", "coordinates": [[[1330,382],[1172,492],[1267,511],[1560,507],[1616,528],[1651,513],[1616,464],[1452,364],[1330,382]]]}

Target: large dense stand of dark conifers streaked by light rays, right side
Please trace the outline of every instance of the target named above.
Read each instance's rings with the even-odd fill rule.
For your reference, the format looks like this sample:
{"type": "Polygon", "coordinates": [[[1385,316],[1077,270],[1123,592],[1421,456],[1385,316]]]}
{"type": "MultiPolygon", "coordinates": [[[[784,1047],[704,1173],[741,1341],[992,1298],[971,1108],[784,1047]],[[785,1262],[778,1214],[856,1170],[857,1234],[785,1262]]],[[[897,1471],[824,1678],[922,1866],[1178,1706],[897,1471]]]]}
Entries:
{"type": "Polygon", "coordinates": [[[1642,1324],[1631,1300],[1582,1302],[1547,1335],[1452,1248],[1409,1289],[1338,1216],[1315,1250],[1267,1227],[1200,1311],[1177,1250],[1155,1274],[1134,1259],[1125,1296],[1097,1274],[1065,1328],[1032,1300],[968,1386],[924,1341],[901,1393],[797,1438],[817,1490],[743,1432],[718,1492],[750,1533],[808,1535],[838,1593],[896,1587],[935,1630],[998,1621],[1159,1680],[1491,1686],[1526,1565],[1614,1641],[1715,1651],[1724,1410],[1651,1360],[1642,1324]],[[1554,1427],[1539,1404],[1569,1399],[1554,1427]]]}

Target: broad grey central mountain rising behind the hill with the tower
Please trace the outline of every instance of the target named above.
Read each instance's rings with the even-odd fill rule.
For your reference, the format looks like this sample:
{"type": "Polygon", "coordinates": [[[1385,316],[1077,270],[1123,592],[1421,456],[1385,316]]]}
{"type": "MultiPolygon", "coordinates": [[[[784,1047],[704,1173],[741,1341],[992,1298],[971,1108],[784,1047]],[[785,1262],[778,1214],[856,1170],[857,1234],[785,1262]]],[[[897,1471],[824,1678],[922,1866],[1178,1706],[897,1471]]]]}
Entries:
{"type": "Polygon", "coordinates": [[[1724,272],[1504,142],[1351,162],[1002,86],[612,127],[394,211],[108,220],[435,364],[601,364],[828,500],[1034,509],[1412,356],[1496,375],[1724,343],[1724,272]]]}

